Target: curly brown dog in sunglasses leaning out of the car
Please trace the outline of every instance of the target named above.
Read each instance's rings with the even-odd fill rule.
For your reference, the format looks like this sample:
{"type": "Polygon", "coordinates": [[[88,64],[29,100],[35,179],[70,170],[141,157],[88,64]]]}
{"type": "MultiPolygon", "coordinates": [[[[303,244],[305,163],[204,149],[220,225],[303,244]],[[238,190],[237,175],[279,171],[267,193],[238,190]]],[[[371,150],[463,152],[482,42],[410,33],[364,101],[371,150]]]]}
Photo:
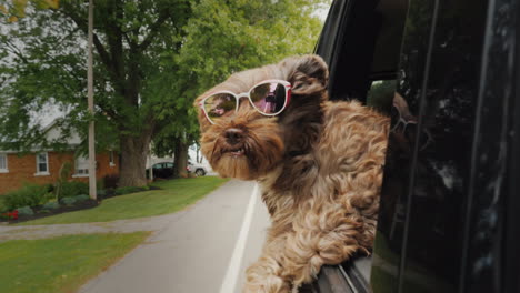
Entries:
{"type": "Polygon", "coordinates": [[[320,57],[293,57],[196,100],[202,153],[220,175],[257,181],[271,216],[243,292],[298,292],[372,247],[389,119],[328,101],[327,82],[320,57]]]}

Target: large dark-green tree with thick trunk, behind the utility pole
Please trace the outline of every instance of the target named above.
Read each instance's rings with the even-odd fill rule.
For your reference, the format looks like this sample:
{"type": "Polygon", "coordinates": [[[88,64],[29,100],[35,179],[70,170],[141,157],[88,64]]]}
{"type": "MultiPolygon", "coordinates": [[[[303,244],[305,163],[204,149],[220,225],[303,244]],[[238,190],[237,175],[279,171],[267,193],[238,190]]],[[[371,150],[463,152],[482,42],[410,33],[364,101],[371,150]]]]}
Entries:
{"type": "Polygon", "coordinates": [[[163,55],[181,46],[182,28],[191,16],[189,1],[97,1],[94,118],[84,107],[87,4],[61,1],[57,10],[27,10],[30,17],[3,26],[8,33],[0,38],[0,48],[9,52],[2,55],[7,65],[0,69],[8,80],[1,94],[8,105],[0,127],[4,142],[31,146],[41,132],[30,124],[31,108],[58,104],[67,108],[63,124],[84,129],[90,119],[102,124],[98,128],[101,144],[110,143],[102,139],[104,134],[118,133],[119,184],[146,184],[148,145],[159,130],[154,112],[166,99],[158,94],[157,81],[170,74],[164,72],[163,55]]]}

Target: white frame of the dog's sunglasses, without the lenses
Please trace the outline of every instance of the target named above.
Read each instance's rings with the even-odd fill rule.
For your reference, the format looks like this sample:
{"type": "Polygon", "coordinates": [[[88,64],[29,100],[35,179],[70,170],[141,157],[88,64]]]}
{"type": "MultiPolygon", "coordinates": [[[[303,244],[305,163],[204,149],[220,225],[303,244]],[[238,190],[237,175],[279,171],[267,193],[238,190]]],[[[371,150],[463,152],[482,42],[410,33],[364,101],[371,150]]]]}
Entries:
{"type": "MultiPolygon", "coordinates": [[[[257,110],[260,114],[262,115],[267,115],[267,117],[273,117],[273,115],[278,115],[280,114],[281,112],[283,112],[283,110],[286,110],[287,105],[289,104],[290,100],[291,100],[291,83],[287,80],[264,80],[264,81],[261,81],[254,85],[251,87],[251,89],[249,89],[248,92],[242,92],[242,93],[239,93],[239,94],[236,94],[234,92],[231,92],[231,91],[217,91],[217,92],[212,92],[210,94],[208,94],[206,98],[203,98],[202,100],[200,100],[199,102],[199,107],[200,109],[202,110],[202,112],[204,113],[206,115],[206,119],[208,119],[208,121],[211,123],[211,124],[216,124],[216,122],[213,122],[210,117],[208,115],[208,112],[206,111],[206,108],[204,108],[204,102],[206,100],[208,100],[209,98],[216,95],[216,94],[219,94],[219,93],[227,93],[227,94],[230,94],[232,97],[234,97],[234,99],[237,100],[237,108],[234,109],[234,113],[238,112],[238,109],[239,109],[239,105],[240,105],[240,99],[242,98],[248,98],[249,100],[249,103],[252,105],[252,108],[254,110],[257,110]],[[283,107],[280,109],[280,111],[276,112],[276,113],[272,113],[272,114],[268,114],[268,113],[263,113],[262,111],[260,111],[260,109],[258,109],[253,101],[251,100],[251,91],[257,88],[258,85],[262,85],[262,84],[266,84],[266,83],[279,83],[279,84],[282,84],[283,88],[286,89],[286,101],[283,102],[283,107]]],[[[233,114],[234,114],[233,113],[233,114]]]]}

